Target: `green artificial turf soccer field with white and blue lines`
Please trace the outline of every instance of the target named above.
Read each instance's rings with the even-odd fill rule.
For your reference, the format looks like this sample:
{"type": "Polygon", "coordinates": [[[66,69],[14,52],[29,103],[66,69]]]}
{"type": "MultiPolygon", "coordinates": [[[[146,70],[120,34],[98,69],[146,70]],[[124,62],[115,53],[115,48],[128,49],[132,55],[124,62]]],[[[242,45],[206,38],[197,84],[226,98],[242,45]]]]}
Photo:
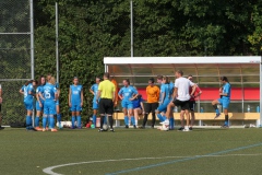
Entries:
{"type": "Polygon", "coordinates": [[[261,129],[0,131],[0,174],[261,174],[261,129]],[[46,173],[45,173],[45,172],[46,173]]]}

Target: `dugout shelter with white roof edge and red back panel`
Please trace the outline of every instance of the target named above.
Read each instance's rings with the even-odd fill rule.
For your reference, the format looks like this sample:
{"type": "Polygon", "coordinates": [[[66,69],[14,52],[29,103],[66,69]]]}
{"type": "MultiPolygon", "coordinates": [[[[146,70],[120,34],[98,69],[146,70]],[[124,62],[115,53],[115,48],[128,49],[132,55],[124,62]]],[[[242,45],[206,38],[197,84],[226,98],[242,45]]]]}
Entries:
{"type": "MultiPolygon", "coordinates": [[[[229,107],[231,124],[245,125],[254,121],[257,126],[261,126],[262,68],[260,56],[105,57],[104,63],[105,71],[114,77],[119,88],[122,86],[122,79],[129,78],[131,84],[136,86],[145,100],[145,88],[150,78],[156,79],[158,74],[163,74],[175,81],[176,70],[182,70],[184,77],[192,74],[194,82],[203,92],[195,109],[199,125],[204,125],[205,120],[214,118],[211,102],[219,97],[218,89],[222,86],[219,77],[226,75],[231,84],[229,107]]],[[[178,116],[175,115],[175,118],[178,119],[178,116]]]]}

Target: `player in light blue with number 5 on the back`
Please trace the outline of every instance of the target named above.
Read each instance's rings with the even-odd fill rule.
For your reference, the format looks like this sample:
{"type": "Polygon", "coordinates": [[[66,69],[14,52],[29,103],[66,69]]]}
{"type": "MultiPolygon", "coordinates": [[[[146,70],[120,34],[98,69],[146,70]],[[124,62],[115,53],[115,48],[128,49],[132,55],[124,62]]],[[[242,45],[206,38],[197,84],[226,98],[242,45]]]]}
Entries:
{"type": "Polygon", "coordinates": [[[52,132],[56,132],[57,129],[55,128],[55,117],[56,114],[56,101],[58,100],[57,89],[55,86],[56,79],[53,77],[44,85],[44,94],[43,98],[45,100],[44,103],[44,116],[43,116],[43,131],[46,131],[46,125],[49,119],[49,126],[52,132]]]}

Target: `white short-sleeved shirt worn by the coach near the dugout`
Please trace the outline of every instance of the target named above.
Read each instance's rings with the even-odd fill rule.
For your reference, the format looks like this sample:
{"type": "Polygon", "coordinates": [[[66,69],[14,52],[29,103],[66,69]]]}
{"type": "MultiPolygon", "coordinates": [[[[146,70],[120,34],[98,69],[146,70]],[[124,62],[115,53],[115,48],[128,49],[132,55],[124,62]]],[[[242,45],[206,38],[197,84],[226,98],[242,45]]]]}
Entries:
{"type": "Polygon", "coordinates": [[[186,78],[178,78],[175,81],[175,88],[178,89],[178,97],[177,100],[184,102],[190,100],[189,94],[189,88],[193,86],[194,83],[192,83],[190,80],[186,78]]]}

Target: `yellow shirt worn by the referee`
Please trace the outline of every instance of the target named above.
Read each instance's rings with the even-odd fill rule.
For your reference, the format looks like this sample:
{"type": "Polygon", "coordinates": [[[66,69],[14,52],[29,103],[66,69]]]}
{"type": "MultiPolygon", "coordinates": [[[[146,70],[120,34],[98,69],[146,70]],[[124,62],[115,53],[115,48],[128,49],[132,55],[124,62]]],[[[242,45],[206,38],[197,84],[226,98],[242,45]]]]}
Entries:
{"type": "Polygon", "coordinates": [[[99,83],[98,91],[100,91],[100,98],[112,100],[116,88],[115,84],[109,80],[104,80],[99,83]]]}

